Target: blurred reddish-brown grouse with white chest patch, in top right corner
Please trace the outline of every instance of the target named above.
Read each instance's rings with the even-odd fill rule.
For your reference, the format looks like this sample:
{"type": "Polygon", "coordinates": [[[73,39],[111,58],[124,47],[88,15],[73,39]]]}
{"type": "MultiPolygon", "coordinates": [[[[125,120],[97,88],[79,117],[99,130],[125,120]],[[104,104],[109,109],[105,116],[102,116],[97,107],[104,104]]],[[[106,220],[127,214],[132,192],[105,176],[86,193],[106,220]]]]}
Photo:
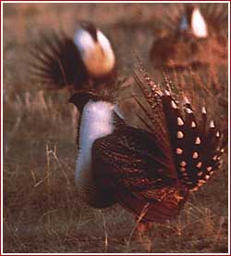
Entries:
{"type": "Polygon", "coordinates": [[[150,58],[157,68],[227,64],[227,4],[170,4],[153,24],[150,58]]]}

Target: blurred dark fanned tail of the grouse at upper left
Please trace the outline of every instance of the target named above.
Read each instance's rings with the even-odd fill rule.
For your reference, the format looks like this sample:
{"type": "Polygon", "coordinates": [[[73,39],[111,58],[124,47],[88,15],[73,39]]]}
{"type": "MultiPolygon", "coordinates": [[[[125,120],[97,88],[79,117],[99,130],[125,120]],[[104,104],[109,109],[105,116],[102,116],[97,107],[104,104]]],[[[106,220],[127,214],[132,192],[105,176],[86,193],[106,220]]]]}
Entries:
{"type": "Polygon", "coordinates": [[[43,34],[42,38],[41,44],[30,49],[32,81],[54,89],[65,86],[82,89],[88,83],[88,75],[73,40],[57,32],[43,34]]]}

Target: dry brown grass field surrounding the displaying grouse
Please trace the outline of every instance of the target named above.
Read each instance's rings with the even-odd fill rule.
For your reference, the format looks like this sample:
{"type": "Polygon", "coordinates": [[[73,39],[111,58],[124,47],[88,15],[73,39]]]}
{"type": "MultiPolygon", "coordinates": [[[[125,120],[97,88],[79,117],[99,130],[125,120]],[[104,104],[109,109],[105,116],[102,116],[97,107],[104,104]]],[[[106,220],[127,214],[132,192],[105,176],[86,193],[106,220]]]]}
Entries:
{"type": "MultiPolygon", "coordinates": [[[[99,211],[79,201],[74,186],[77,111],[67,92],[46,91],[29,83],[28,48],[43,30],[74,32],[90,19],[113,42],[120,78],[132,83],[133,51],[152,78],[161,83],[148,53],[152,22],[164,15],[163,4],[4,4],[3,86],[3,251],[6,253],[146,252],[130,237],[133,217],[120,206],[99,211]]],[[[227,132],[227,67],[174,73],[195,102],[206,102],[227,132]]],[[[135,91],[133,84],[125,93],[135,91]],[[131,88],[131,89],[130,89],[131,88]]],[[[123,96],[122,96],[123,95],[123,96]]],[[[123,101],[128,122],[136,123],[135,103],[123,101]]],[[[227,138],[227,134],[225,134],[227,138]]],[[[228,250],[228,165],[194,193],[181,214],[154,224],[155,253],[225,253],[228,250]]]]}

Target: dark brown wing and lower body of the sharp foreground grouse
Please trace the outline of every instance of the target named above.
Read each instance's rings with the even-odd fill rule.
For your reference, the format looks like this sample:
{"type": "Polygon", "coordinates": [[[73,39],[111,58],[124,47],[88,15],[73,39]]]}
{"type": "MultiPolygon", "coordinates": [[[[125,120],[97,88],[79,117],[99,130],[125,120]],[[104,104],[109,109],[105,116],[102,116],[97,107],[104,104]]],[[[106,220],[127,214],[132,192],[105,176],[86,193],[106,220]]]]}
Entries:
{"type": "Polygon", "coordinates": [[[166,158],[152,134],[125,126],[94,142],[93,175],[98,186],[109,186],[118,202],[136,216],[149,205],[143,219],[163,221],[178,212],[187,194],[180,190],[166,158]]]}

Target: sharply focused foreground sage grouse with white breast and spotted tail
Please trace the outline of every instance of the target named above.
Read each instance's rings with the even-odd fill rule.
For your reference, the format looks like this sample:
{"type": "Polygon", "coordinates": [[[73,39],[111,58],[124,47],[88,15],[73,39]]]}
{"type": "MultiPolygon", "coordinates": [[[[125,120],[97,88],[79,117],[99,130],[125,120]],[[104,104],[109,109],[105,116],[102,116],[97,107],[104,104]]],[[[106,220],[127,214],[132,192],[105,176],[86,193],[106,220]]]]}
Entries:
{"type": "Polygon", "coordinates": [[[150,107],[148,130],[129,126],[116,104],[80,92],[70,97],[80,112],[76,185],[92,207],[115,203],[140,224],[164,222],[180,211],[190,191],[206,184],[222,164],[223,135],[202,107],[177,103],[144,75],[135,75],[150,107]]]}

